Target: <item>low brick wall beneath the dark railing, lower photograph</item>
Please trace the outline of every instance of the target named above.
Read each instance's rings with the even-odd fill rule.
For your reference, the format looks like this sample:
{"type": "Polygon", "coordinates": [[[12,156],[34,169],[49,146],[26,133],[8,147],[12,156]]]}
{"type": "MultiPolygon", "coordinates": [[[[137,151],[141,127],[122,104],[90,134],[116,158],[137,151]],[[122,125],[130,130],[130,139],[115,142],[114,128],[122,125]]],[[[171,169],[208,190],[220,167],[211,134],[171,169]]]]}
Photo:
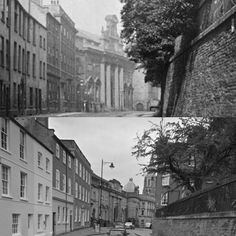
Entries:
{"type": "Polygon", "coordinates": [[[236,235],[236,212],[204,213],[153,220],[152,236],[236,235]]]}

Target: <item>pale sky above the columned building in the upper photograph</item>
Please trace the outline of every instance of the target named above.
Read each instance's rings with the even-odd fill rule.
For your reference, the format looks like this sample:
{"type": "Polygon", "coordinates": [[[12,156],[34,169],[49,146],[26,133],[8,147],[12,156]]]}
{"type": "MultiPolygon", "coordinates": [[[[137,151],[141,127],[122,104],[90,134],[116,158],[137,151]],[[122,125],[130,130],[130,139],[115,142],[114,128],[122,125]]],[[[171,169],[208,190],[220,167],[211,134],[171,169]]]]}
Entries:
{"type": "MultiPolygon", "coordinates": [[[[105,29],[105,16],[115,14],[120,20],[122,4],[120,0],[60,0],[66,13],[75,22],[76,27],[91,33],[101,33],[105,29]]],[[[120,30],[121,24],[118,25],[120,30]]]]}

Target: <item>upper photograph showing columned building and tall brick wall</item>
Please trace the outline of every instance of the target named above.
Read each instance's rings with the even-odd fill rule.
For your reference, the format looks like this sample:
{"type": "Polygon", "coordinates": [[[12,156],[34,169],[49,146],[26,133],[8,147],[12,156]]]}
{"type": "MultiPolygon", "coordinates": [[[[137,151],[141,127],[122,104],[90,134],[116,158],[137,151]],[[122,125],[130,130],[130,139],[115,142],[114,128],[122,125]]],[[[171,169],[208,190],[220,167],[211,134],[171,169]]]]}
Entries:
{"type": "Polygon", "coordinates": [[[0,116],[235,117],[236,0],[0,0],[0,116]]]}

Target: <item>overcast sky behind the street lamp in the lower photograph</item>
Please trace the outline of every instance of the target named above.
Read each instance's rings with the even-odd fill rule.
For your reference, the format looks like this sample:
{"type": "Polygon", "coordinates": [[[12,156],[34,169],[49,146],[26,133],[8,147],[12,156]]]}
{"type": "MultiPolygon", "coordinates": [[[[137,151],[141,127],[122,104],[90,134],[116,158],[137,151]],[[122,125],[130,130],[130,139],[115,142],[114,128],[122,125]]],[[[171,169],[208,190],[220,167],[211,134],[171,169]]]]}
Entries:
{"type": "Polygon", "coordinates": [[[60,139],[74,139],[85,157],[91,164],[92,170],[100,176],[101,161],[113,162],[114,169],[104,166],[103,177],[107,180],[117,179],[125,185],[129,178],[143,188],[143,177],[139,173],[139,163],[131,155],[135,145],[136,134],[142,134],[151,127],[158,118],[50,118],[49,127],[55,129],[60,139]]]}

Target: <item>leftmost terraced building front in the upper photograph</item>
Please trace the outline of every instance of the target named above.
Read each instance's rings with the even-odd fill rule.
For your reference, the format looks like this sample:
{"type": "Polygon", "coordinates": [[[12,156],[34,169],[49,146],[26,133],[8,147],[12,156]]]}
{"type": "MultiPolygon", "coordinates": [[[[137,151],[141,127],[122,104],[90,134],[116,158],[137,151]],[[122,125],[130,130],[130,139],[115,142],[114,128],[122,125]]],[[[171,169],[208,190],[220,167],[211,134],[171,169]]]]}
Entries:
{"type": "Polygon", "coordinates": [[[21,1],[3,0],[0,11],[0,114],[45,113],[46,28],[21,1]]]}

